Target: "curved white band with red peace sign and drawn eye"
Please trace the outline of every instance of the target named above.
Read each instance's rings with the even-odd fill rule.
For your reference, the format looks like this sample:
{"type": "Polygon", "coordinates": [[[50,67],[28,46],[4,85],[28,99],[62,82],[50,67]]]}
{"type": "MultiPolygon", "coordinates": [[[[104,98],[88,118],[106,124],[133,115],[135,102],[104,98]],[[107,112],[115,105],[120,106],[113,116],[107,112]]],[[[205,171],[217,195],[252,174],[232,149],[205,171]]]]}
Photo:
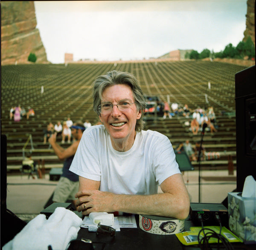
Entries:
{"type": "Polygon", "coordinates": [[[184,220],[153,215],[140,214],[139,225],[143,231],[153,234],[170,235],[184,230],[184,220]]]}

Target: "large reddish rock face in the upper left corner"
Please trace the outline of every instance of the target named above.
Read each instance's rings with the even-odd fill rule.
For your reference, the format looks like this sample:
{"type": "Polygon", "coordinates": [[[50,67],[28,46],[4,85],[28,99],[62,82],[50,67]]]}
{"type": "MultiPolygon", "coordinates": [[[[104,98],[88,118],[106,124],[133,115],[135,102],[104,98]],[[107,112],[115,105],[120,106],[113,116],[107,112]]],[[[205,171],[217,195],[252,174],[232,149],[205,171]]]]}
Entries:
{"type": "Polygon", "coordinates": [[[33,1],[1,1],[1,65],[31,63],[30,53],[37,63],[47,63],[36,25],[33,1]]]}

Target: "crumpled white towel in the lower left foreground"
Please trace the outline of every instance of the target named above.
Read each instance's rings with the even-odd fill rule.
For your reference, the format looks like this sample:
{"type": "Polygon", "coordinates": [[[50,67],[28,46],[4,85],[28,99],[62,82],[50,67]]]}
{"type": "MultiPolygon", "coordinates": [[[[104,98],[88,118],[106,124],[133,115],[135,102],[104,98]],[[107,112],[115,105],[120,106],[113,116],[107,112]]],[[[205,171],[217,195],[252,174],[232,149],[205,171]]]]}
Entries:
{"type": "MultiPolygon", "coordinates": [[[[46,219],[39,214],[32,219],[3,250],[65,250],[67,244],[77,238],[82,219],[64,207],[57,207],[46,219]]],[[[15,226],[15,225],[14,225],[15,226]]]]}

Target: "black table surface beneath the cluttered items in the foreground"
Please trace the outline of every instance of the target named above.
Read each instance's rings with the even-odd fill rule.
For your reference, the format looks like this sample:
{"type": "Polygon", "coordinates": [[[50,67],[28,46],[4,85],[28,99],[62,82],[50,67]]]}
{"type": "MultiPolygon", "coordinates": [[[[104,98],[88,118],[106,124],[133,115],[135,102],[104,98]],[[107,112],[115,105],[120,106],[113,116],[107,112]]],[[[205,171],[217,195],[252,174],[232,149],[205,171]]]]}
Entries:
{"type": "MultiPolygon", "coordinates": [[[[175,236],[172,235],[156,235],[147,233],[139,227],[139,216],[135,215],[137,228],[121,228],[116,232],[115,237],[96,235],[96,232],[89,232],[87,228],[81,228],[78,232],[77,239],[90,239],[93,241],[95,250],[150,250],[150,249],[174,249],[174,250],[198,250],[196,246],[185,246],[175,236]]],[[[184,231],[189,231],[192,227],[191,220],[185,220],[184,231]]],[[[241,243],[233,243],[234,249],[256,250],[256,245],[245,245],[241,243]]],[[[224,249],[224,248],[222,248],[224,249]]]]}

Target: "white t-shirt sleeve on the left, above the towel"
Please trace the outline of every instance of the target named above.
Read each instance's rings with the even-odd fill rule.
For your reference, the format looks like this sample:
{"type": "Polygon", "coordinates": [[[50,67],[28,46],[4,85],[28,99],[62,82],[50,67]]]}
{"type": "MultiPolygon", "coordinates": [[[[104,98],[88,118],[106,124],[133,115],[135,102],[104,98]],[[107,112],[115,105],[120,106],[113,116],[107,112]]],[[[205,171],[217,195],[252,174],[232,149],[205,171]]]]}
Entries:
{"type": "Polygon", "coordinates": [[[87,179],[100,181],[101,171],[99,165],[99,150],[93,132],[84,131],[79,146],[76,150],[70,171],[87,179]]]}

